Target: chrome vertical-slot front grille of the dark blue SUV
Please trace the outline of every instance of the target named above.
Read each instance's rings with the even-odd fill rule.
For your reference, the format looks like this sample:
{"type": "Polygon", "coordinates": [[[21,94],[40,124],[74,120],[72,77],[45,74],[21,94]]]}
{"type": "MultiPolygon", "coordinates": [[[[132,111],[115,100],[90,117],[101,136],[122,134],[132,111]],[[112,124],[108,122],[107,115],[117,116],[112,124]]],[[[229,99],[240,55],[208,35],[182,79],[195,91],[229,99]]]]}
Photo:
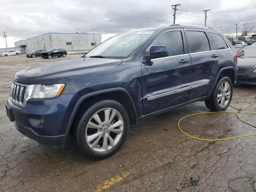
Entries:
{"type": "Polygon", "coordinates": [[[26,92],[26,85],[13,82],[12,83],[12,90],[11,90],[11,100],[12,103],[24,107],[26,105],[25,98],[25,92],[26,92]]]}

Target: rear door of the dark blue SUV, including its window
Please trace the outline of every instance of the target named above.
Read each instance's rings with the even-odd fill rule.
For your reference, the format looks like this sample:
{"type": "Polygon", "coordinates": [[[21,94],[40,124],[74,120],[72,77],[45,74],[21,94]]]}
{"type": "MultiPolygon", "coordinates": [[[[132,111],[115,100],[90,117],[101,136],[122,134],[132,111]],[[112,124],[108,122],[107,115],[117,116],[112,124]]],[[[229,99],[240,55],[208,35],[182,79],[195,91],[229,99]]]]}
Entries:
{"type": "Polygon", "coordinates": [[[186,29],[185,34],[192,62],[190,100],[196,100],[210,93],[222,60],[205,31],[186,29]]]}

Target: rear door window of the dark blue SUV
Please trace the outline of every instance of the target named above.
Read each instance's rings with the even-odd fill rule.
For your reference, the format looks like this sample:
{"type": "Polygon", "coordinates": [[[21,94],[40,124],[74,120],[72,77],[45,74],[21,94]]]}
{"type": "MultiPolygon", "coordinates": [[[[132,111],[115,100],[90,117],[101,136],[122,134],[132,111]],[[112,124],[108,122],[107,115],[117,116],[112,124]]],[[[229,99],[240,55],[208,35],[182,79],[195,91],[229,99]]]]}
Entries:
{"type": "Polygon", "coordinates": [[[204,32],[187,31],[186,34],[191,53],[210,51],[209,41],[204,32]]]}

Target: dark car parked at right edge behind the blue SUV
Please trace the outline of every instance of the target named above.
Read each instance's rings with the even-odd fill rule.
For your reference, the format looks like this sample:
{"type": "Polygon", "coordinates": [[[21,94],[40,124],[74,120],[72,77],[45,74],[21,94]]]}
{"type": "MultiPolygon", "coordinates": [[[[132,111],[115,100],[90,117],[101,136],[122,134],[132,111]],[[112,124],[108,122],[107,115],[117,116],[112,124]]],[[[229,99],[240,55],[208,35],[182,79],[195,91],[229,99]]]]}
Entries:
{"type": "Polygon", "coordinates": [[[247,46],[238,52],[237,84],[256,85],[256,46],[247,46]]]}

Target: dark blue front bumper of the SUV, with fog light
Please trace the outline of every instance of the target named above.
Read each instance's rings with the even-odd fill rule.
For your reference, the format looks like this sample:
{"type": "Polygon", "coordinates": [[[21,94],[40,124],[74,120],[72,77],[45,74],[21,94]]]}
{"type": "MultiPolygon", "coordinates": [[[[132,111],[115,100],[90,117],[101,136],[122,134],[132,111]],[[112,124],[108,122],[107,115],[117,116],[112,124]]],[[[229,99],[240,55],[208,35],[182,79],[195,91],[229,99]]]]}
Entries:
{"type": "Polygon", "coordinates": [[[76,102],[76,94],[62,94],[56,98],[29,99],[24,108],[16,106],[10,98],[7,108],[19,132],[40,144],[64,147],[68,121],[76,102]]]}

